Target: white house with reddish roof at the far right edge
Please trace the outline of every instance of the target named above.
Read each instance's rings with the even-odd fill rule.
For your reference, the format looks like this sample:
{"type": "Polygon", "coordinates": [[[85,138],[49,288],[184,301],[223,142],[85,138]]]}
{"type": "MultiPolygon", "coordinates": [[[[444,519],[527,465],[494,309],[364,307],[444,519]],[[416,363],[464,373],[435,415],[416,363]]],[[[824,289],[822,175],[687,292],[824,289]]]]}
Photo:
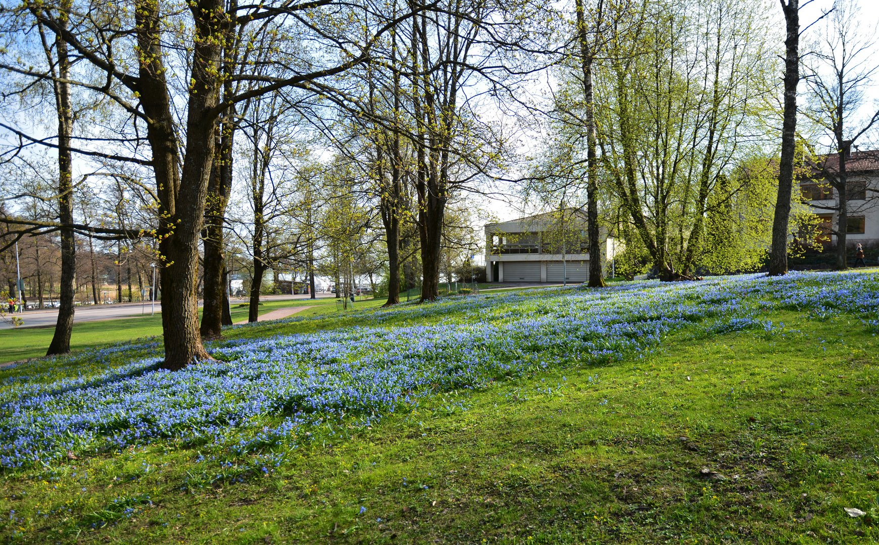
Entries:
{"type": "MultiPolygon", "coordinates": [[[[816,174],[816,179],[800,183],[800,191],[820,219],[820,240],[835,247],[839,195],[825,177],[839,172],[839,155],[828,155],[824,165],[828,176],[816,174]]],[[[879,247],[879,151],[848,154],[846,174],[846,246],[860,242],[864,247],[879,247]]]]}

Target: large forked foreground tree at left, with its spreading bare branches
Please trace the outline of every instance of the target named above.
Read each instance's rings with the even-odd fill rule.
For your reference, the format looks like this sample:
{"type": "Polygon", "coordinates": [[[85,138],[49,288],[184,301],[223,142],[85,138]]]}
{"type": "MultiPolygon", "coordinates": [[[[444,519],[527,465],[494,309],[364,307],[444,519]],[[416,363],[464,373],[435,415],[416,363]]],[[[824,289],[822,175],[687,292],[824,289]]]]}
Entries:
{"type": "MultiPolygon", "coordinates": [[[[82,62],[100,73],[98,79],[105,81],[82,82],[83,87],[104,93],[138,124],[145,125],[151,156],[141,162],[152,169],[160,205],[161,223],[154,235],[159,240],[162,273],[163,366],[181,369],[208,358],[200,339],[195,288],[218,118],[233,104],[250,97],[290,87],[310,90],[313,82],[366,62],[374,39],[410,18],[410,13],[376,29],[366,42],[355,43],[348,39],[342,24],[349,4],[330,0],[246,6],[198,0],[187,4],[185,13],[173,15],[171,6],[161,0],[132,0],[125,7],[133,13],[133,19],[96,17],[96,9],[119,9],[110,4],[69,13],[47,2],[28,2],[25,7],[40,24],[63,39],[82,62]],[[331,4],[335,4],[335,11],[328,9],[331,4]],[[181,25],[165,25],[167,17],[181,18],[181,25]],[[277,51],[272,63],[279,69],[271,76],[255,77],[248,73],[248,67],[239,66],[231,77],[258,85],[234,97],[221,98],[222,51],[232,39],[230,30],[281,18],[298,25],[298,30],[291,27],[289,32],[301,32],[303,38],[308,35],[319,43],[321,54],[294,50],[285,57],[277,51]],[[179,39],[177,54],[183,59],[179,67],[169,65],[171,57],[166,51],[176,28],[191,32],[191,39],[179,39]],[[136,72],[129,72],[128,66],[136,67],[136,72]],[[171,81],[175,74],[170,68],[186,74],[182,92],[171,81]],[[180,104],[185,104],[185,111],[175,115],[180,104]],[[178,119],[183,119],[182,123],[178,119]],[[178,141],[178,135],[185,135],[185,141],[178,141]]],[[[418,5],[413,11],[421,9],[418,5]]]]}

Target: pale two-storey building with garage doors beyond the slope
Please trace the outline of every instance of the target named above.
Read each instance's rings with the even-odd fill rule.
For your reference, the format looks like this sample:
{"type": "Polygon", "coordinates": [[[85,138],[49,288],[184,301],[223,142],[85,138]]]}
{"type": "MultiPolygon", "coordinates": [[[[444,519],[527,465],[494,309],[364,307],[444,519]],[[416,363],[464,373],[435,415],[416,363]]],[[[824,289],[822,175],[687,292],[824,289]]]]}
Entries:
{"type": "MultiPolygon", "coordinates": [[[[565,209],[485,226],[487,282],[570,283],[589,280],[586,214],[565,209]]],[[[600,228],[602,267],[622,250],[600,228]]]]}

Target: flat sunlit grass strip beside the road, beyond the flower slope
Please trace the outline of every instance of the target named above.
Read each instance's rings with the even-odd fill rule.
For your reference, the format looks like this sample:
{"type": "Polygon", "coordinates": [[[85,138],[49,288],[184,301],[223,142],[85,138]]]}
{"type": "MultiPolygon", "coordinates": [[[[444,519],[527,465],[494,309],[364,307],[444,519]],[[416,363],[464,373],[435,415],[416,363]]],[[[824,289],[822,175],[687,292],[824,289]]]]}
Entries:
{"type": "MultiPolygon", "coordinates": [[[[335,298],[321,299],[289,299],[283,301],[266,301],[259,305],[259,314],[263,315],[288,306],[313,306],[313,308],[298,312],[297,316],[314,316],[324,312],[336,311],[335,298]]],[[[372,307],[381,305],[383,301],[367,299],[357,301],[357,308],[361,306],[372,307]]],[[[146,307],[146,316],[134,316],[131,318],[105,319],[93,322],[77,322],[73,326],[70,335],[70,350],[79,352],[85,348],[114,344],[123,341],[134,341],[142,337],[151,337],[162,334],[162,316],[156,312],[155,316],[149,316],[149,306],[146,307]]],[[[232,321],[237,322],[247,319],[247,306],[232,305],[232,321]]],[[[199,310],[199,314],[201,310],[199,310]]],[[[27,324],[25,313],[25,326],[27,324]]],[[[19,327],[16,329],[4,329],[0,331],[0,363],[17,362],[27,358],[46,355],[46,349],[52,341],[54,327],[19,327]]]]}

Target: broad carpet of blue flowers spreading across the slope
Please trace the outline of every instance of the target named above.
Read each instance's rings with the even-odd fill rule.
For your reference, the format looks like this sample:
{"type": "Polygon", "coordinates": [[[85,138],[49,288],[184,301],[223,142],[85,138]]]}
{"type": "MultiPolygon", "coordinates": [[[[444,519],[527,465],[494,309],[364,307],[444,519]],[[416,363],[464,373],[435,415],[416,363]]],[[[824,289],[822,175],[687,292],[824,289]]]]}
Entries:
{"type": "Polygon", "coordinates": [[[680,331],[771,330],[777,325],[765,315],[777,309],[816,319],[846,313],[879,330],[879,275],[446,298],[346,315],[358,326],[218,342],[214,361],[178,372],[157,369],[155,341],[19,365],[0,371],[0,466],[15,471],[156,441],[266,453],[269,463],[273,445],[309,441],[318,426],[368,427],[437,392],[637,357],[680,331]]]}

